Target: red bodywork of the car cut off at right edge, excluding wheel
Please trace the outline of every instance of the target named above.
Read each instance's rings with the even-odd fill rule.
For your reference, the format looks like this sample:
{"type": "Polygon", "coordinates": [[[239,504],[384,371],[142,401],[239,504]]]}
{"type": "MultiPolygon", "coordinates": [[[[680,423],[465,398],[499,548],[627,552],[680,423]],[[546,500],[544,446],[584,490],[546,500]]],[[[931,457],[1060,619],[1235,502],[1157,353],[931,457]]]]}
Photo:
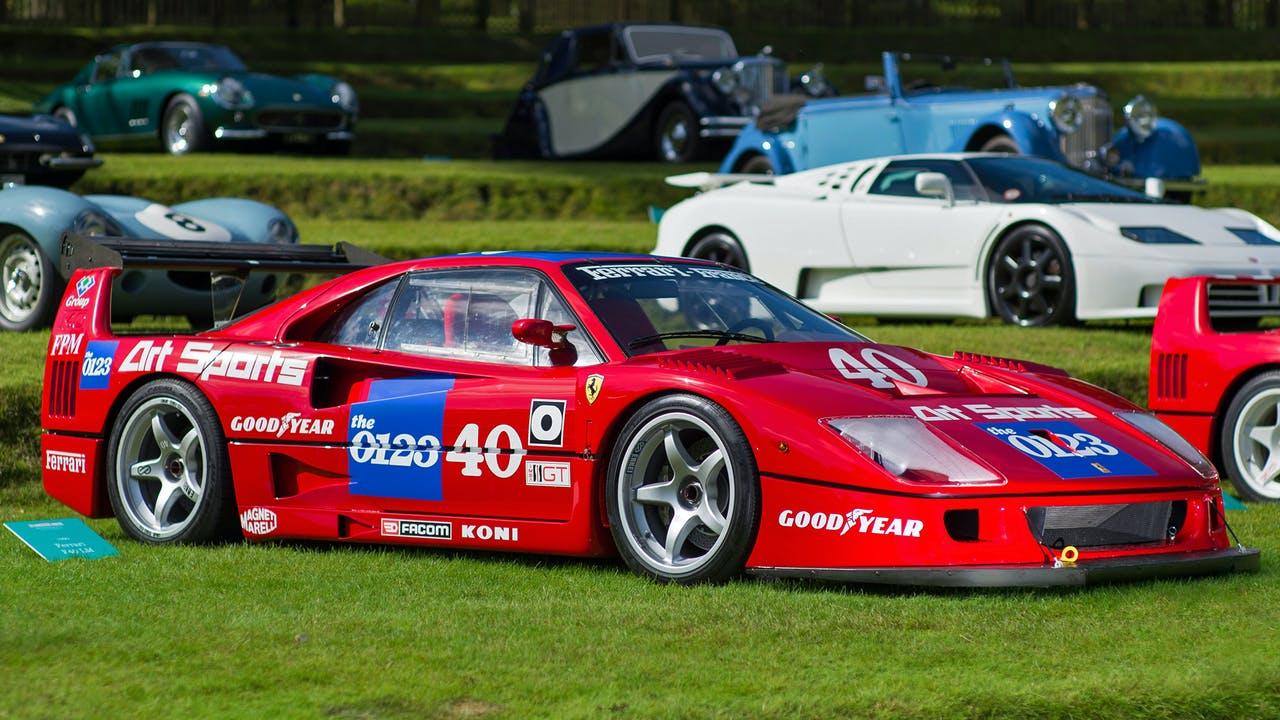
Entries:
{"type": "Polygon", "coordinates": [[[1171,278],[1151,340],[1148,406],[1201,452],[1221,461],[1222,415],[1253,375],[1280,368],[1280,332],[1220,332],[1210,287],[1280,287],[1280,278],[1171,278]]]}

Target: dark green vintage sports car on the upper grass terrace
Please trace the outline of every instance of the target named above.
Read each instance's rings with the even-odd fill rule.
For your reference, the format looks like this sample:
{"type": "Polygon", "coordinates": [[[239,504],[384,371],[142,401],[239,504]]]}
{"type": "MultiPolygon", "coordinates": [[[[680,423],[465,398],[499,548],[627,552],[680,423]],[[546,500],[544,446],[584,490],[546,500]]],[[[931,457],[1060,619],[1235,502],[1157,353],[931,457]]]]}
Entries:
{"type": "Polygon", "coordinates": [[[305,143],[346,152],[358,104],[329,76],[255,73],[234,53],[201,42],[118,45],[36,104],[99,143],[160,140],[173,155],[215,143],[305,143]]]}

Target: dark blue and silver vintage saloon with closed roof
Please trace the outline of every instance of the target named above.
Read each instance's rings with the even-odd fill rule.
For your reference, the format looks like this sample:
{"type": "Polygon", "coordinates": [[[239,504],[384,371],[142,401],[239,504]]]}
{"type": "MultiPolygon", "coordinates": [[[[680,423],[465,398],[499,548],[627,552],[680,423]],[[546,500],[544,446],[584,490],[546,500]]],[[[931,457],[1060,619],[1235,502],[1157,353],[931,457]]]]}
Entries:
{"type": "Polygon", "coordinates": [[[562,32],[520,92],[498,158],[657,158],[723,151],[776,95],[831,94],[820,67],[787,77],[768,47],[740,56],[713,27],[603,24],[562,32]]]}

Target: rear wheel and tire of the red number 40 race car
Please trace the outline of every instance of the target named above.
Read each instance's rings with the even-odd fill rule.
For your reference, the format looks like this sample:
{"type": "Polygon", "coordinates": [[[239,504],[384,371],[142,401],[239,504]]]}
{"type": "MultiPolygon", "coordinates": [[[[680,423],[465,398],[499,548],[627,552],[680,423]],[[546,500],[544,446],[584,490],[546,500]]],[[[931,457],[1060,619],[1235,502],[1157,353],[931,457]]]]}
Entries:
{"type": "Polygon", "coordinates": [[[214,406],[189,383],[142,386],[120,409],[108,448],[108,497],[127,536],[154,544],[234,536],[227,439],[214,406]]]}

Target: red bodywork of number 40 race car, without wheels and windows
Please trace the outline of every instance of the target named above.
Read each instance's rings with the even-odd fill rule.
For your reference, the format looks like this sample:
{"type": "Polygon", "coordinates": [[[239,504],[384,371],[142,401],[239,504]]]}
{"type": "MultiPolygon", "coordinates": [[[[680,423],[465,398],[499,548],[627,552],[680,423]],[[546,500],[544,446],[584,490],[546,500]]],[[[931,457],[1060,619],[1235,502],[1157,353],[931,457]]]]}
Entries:
{"type": "MultiPolygon", "coordinates": [[[[118,269],[79,270],[50,340],[42,451],[46,459],[70,454],[83,462],[46,460],[45,488],[78,512],[110,515],[106,438],[115,414],[129,392],[168,375],[195,384],[215,409],[251,541],[607,556],[614,547],[603,488],[618,432],[646,400],[686,392],[722,405],[741,425],[759,465],[762,514],[749,570],[1052,569],[1062,565],[1062,548],[1034,537],[1032,509],[1166,500],[1185,503],[1175,537],[1091,548],[1079,565],[1196,559],[1230,547],[1216,478],[1201,477],[1116,418],[1115,411],[1134,406],[1111,393],[1034,364],[860,342],[740,345],[628,357],[564,275],[564,265],[588,261],[584,258],[596,256],[498,254],[381,265],[221,331],[151,337],[110,331],[109,292],[118,269]],[[513,366],[310,340],[364,291],[406,272],[454,266],[543,273],[604,361],[513,366]],[[868,357],[868,350],[927,382],[895,379],[891,387],[876,388],[841,370],[838,357],[868,357]],[[595,397],[586,391],[591,377],[603,378],[595,397]],[[536,442],[532,419],[545,413],[557,418],[559,433],[536,442]],[[820,423],[849,416],[916,418],[997,479],[961,484],[895,478],[820,423]],[[1068,461],[1084,471],[1068,477],[1071,473],[1020,452],[1006,437],[1020,432],[1016,428],[1059,425],[1101,438],[1110,455],[1080,465],[1075,456],[1088,452],[1073,450],[1068,461]],[[388,450],[387,438],[378,448],[360,439],[384,430],[387,438],[408,436],[415,450],[388,450]],[[957,539],[948,511],[975,512],[973,537],[957,539]]],[[[621,260],[655,261],[591,261],[621,260]]],[[[1041,578],[1034,584],[1055,584],[1041,578]]]]}

